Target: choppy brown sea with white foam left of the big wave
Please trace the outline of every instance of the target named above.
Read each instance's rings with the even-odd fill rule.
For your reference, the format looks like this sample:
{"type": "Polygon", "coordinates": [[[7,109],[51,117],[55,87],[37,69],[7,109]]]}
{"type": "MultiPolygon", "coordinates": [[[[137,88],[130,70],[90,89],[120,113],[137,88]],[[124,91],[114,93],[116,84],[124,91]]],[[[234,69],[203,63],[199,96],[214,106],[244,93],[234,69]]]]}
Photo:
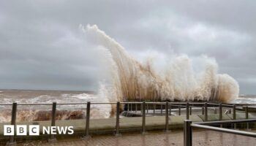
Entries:
{"type": "MultiPolygon", "coordinates": [[[[48,116],[52,108],[51,103],[86,103],[109,102],[104,95],[100,96],[92,91],[34,91],[34,90],[0,90],[0,122],[9,122],[12,106],[1,104],[12,104],[13,102],[50,103],[50,105],[18,105],[18,121],[38,120],[41,115],[48,116]]],[[[60,120],[68,119],[70,116],[84,117],[86,115],[86,104],[59,105],[60,120]]],[[[91,105],[91,118],[108,118],[111,106],[108,104],[91,105]]],[[[48,118],[45,118],[48,120],[48,118]]]]}

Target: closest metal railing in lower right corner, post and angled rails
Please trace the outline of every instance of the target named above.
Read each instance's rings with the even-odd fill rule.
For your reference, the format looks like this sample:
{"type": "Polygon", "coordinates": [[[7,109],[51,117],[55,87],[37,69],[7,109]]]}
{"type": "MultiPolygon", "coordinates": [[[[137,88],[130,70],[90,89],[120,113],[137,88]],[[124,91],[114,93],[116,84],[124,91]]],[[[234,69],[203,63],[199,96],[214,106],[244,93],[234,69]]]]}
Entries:
{"type": "Polygon", "coordinates": [[[256,137],[256,133],[248,131],[239,131],[228,128],[219,128],[211,125],[220,124],[236,124],[236,123],[252,123],[256,122],[256,119],[250,120],[222,120],[222,121],[212,121],[212,122],[198,122],[192,123],[192,120],[184,120],[184,146],[192,146],[192,128],[203,128],[212,131],[225,132],[229,134],[238,134],[246,137],[256,137]]]}

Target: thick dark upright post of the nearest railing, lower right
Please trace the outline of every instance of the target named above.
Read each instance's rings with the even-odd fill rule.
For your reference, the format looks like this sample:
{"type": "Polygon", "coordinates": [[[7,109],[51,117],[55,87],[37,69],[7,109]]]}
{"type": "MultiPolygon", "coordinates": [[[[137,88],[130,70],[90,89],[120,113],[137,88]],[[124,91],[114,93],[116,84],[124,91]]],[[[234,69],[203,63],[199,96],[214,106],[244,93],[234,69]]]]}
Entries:
{"type": "Polygon", "coordinates": [[[184,120],[184,146],[192,146],[192,120],[184,120]]]}

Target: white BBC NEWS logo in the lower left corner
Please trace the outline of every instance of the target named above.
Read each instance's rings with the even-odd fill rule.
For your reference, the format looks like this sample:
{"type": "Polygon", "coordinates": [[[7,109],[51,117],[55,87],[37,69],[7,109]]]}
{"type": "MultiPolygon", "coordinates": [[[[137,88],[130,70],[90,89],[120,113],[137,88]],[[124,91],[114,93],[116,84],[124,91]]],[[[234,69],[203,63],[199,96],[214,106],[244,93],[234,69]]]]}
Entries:
{"type": "MultiPolygon", "coordinates": [[[[17,125],[16,130],[13,125],[4,125],[4,136],[38,136],[40,127],[36,125],[17,125]],[[27,131],[29,130],[29,132],[27,131]]],[[[73,126],[42,126],[42,134],[74,134],[73,126]]]]}

